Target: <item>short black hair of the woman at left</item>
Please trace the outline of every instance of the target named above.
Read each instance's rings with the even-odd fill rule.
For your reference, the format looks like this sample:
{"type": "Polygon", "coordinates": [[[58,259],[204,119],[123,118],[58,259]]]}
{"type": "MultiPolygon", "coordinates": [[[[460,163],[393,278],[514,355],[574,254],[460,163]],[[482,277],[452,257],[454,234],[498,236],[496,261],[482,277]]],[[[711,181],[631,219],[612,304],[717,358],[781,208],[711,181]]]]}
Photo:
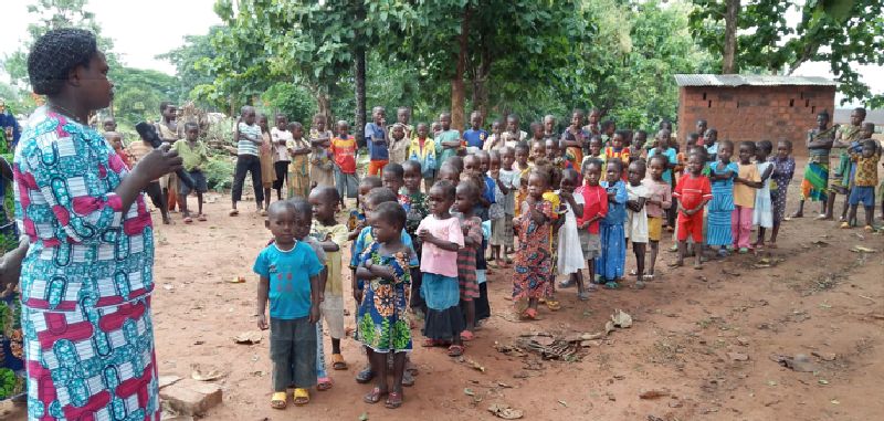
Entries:
{"type": "Polygon", "coordinates": [[[95,34],[90,31],[64,28],[46,32],[28,54],[28,76],[33,92],[59,94],[71,71],[78,65],[88,66],[97,52],[95,34]]]}

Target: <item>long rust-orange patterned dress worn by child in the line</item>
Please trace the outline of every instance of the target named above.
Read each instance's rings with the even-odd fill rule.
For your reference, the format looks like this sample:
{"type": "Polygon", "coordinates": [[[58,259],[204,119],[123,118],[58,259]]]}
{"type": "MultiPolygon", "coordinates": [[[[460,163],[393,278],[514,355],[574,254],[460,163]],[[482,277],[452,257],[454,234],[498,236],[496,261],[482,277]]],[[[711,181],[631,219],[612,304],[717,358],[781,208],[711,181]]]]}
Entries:
{"type": "Polygon", "coordinates": [[[555,210],[548,200],[534,206],[548,221],[538,225],[530,218],[530,210],[523,209],[515,224],[518,230],[518,249],[513,278],[513,302],[539,299],[547,292],[547,283],[552,280],[551,235],[555,210]]]}

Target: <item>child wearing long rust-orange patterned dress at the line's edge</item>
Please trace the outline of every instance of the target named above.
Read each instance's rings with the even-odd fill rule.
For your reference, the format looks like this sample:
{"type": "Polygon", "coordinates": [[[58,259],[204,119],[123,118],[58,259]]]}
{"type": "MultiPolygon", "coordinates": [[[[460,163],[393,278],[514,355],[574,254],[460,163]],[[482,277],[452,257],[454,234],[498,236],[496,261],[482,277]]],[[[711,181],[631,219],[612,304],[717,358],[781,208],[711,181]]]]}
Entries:
{"type": "Polygon", "coordinates": [[[544,200],[547,190],[549,176],[543,170],[533,170],[528,177],[528,197],[519,207],[519,215],[513,220],[518,235],[513,302],[517,313],[527,319],[537,318],[537,304],[547,292],[547,283],[551,281],[550,233],[556,209],[548,200],[544,200]]]}

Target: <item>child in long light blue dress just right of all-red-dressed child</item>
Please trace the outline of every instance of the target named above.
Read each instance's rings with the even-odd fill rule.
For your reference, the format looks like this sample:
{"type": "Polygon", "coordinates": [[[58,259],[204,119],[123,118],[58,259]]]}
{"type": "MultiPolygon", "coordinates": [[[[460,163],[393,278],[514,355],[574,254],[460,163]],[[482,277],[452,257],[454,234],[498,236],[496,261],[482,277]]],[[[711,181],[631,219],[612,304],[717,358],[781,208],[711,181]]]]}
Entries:
{"type": "Polygon", "coordinates": [[[712,183],[712,201],[708,212],[708,230],[706,244],[717,249],[718,255],[727,256],[727,249],[734,244],[734,232],[730,218],[734,214],[734,179],[737,178],[739,167],[730,161],[734,144],[724,140],[718,146],[718,161],[709,167],[712,183]]]}

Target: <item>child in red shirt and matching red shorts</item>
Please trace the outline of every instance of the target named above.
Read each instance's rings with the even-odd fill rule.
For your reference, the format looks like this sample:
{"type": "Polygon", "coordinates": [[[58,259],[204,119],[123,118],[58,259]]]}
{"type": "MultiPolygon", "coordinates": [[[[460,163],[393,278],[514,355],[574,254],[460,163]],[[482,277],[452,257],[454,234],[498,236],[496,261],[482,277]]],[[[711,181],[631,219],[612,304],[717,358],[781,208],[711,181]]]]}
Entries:
{"type": "MultiPolygon", "coordinates": [[[[720,149],[718,150],[720,157],[720,149]]],[[[687,172],[678,179],[675,192],[678,199],[678,260],[672,266],[683,266],[687,236],[694,240],[694,269],[702,269],[703,257],[703,207],[712,200],[709,178],[703,176],[704,157],[698,152],[688,155],[687,172]]]]}

